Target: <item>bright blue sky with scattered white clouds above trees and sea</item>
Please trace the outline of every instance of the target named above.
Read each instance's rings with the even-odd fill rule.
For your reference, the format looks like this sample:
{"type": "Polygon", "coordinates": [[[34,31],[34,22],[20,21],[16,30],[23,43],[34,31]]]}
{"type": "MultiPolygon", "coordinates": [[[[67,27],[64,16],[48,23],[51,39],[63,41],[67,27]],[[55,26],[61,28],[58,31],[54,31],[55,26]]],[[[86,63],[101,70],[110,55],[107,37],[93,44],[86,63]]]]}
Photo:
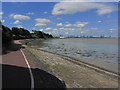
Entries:
{"type": "Polygon", "coordinates": [[[118,36],[117,2],[3,2],[1,16],[3,25],[30,32],[118,36]]]}

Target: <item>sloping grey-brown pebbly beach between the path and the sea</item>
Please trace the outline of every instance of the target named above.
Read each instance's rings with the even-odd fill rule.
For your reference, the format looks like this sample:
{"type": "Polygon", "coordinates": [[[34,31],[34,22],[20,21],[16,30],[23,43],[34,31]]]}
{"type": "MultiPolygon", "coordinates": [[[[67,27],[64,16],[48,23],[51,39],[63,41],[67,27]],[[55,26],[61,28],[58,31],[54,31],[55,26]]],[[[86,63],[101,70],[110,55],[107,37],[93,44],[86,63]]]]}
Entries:
{"type": "Polygon", "coordinates": [[[24,52],[34,67],[55,75],[65,82],[67,88],[118,87],[118,75],[115,73],[90,68],[84,63],[75,63],[72,58],[31,47],[26,47],[24,52]]]}

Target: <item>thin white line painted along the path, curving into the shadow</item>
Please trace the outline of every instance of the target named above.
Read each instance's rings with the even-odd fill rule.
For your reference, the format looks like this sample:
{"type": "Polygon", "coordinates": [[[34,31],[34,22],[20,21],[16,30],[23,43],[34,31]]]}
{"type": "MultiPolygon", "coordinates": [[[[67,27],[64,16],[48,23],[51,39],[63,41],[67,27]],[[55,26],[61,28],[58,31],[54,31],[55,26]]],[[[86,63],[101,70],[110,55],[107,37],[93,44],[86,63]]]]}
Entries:
{"type": "Polygon", "coordinates": [[[29,63],[28,63],[28,60],[27,60],[24,52],[22,51],[22,49],[20,49],[20,51],[21,51],[21,53],[22,53],[22,55],[23,55],[23,57],[24,57],[27,65],[28,65],[28,69],[29,69],[29,72],[30,72],[30,77],[31,77],[31,90],[34,90],[34,78],[33,78],[32,70],[31,70],[31,68],[30,68],[30,65],[29,65],[29,63]]]}

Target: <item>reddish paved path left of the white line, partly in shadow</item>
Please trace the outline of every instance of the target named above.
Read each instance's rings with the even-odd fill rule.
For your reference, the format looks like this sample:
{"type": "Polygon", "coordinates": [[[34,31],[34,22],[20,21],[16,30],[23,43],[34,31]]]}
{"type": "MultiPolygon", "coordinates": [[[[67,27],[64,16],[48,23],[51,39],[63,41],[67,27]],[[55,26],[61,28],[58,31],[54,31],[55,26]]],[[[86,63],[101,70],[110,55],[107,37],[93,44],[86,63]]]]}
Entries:
{"type": "Polygon", "coordinates": [[[30,71],[20,48],[17,43],[14,47],[17,51],[2,55],[3,88],[31,88],[30,71]]]}

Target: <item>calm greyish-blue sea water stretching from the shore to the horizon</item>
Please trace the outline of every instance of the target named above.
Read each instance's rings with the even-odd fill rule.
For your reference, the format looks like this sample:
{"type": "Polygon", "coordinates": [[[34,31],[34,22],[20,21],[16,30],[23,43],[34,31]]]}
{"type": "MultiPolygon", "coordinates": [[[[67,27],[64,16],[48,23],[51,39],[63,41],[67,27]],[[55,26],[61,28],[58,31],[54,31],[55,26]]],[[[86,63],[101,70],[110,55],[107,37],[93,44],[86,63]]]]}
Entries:
{"type": "Polygon", "coordinates": [[[76,58],[117,72],[118,39],[68,38],[36,40],[30,46],[76,58]],[[113,67],[112,67],[113,66],[113,67]]]}

